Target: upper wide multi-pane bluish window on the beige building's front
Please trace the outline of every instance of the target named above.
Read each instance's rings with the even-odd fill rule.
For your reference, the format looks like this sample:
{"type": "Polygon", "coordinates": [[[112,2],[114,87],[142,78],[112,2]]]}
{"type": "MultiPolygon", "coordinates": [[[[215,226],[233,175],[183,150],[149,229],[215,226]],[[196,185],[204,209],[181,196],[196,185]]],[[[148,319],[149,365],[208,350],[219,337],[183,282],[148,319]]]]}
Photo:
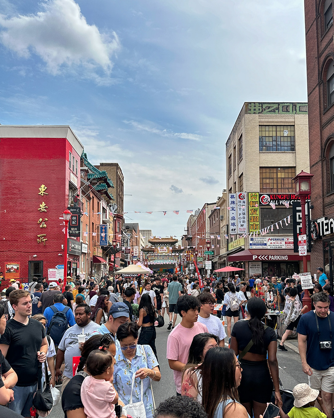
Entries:
{"type": "Polygon", "coordinates": [[[258,127],[260,151],[295,151],[294,125],[258,127]]]}

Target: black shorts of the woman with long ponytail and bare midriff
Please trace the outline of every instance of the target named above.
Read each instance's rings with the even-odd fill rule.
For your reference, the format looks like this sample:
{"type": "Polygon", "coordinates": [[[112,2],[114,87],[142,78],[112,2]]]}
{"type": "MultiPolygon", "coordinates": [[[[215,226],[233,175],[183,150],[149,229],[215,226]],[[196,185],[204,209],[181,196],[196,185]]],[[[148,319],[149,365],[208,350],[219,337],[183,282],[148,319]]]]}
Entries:
{"type": "Polygon", "coordinates": [[[240,403],[249,403],[253,400],[258,403],[270,402],[273,381],[270,377],[267,360],[252,362],[242,359],[240,364],[243,369],[243,377],[238,387],[240,403]]]}

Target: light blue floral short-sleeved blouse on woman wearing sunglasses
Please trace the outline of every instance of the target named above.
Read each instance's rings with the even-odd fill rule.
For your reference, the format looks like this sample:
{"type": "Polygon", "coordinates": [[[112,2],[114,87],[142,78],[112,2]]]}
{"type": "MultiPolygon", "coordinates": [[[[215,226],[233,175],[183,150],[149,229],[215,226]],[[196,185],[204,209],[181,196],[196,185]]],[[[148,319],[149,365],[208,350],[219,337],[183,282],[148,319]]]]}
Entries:
{"type": "MultiPolygon", "coordinates": [[[[130,402],[133,373],[137,372],[137,370],[142,369],[143,367],[153,369],[154,367],[157,367],[159,363],[152,351],[152,348],[149,345],[140,344],[137,344],[136,354],[131,362],[126,357],[124,357],[123,352],[119,348],[116,350],[115,361],[113,384],[119,395],[119,398],[124,402],[124,405],[127,405],[130,402]],[[144,350],[146,352],[147,362],[145,360],[144,350]]],[[[138,377],[134,380],[134,388],[132,393],[133,403],[139,402],[141,400],[140,387],[141,381],[138,377]]],[[[146,417],[153,418],[154,408],[150,377],[143,379],[143,389],[143,401],[146,410],[146,417]]]]}

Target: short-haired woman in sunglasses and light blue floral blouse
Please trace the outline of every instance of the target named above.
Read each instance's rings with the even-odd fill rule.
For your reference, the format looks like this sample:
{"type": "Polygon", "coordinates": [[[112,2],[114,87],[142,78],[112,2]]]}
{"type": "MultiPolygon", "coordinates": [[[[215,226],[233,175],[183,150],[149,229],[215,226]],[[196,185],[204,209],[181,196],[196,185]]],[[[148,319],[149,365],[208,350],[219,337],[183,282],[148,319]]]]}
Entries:
{"type": "Polygon", "coordinates": [[[151,380],[159,382],[161,373],[159,364],[149,345],[138,344],[138,326],[126,322],[116,332],[121,349],[117,350],[114,365],[114,387],[125,405],[131,396],[132,376],[135,373],[132,402],[143,400],[146,417],[153,418],[154,406],[151,391],[151,380]],[[141,399],[141,380],[143,380],[143,399],[141,399]]]}

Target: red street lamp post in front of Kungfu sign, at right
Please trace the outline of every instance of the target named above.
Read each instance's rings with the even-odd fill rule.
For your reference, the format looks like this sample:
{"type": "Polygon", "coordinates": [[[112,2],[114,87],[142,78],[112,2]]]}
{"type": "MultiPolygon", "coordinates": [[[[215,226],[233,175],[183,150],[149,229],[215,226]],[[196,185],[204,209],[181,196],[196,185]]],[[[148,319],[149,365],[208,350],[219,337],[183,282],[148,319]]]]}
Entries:
{"type": "MultiPolygon", "coordinates": [[[[306,173],[306,171],[301,170],[299,174],[296,175],[292,180],[296,184],[296,196],[299,197],[301,201],[301,227],[303,234],[306,234],[306,217],[305,217],[305,205],[306,199],[311,194],[311,178],[313,174],[306,173]]],[[[306,235],[306,242],[308,237],[306,235]]],[[[303,255],[303,270],[304,273],[307,272],[307,255],[303,255]]],[[[311,311],[311,298],[309,295],[309,290],[305,289],[305,294],[303,298],[303,306],[307,306],[307,312],[311,311]]]]}

